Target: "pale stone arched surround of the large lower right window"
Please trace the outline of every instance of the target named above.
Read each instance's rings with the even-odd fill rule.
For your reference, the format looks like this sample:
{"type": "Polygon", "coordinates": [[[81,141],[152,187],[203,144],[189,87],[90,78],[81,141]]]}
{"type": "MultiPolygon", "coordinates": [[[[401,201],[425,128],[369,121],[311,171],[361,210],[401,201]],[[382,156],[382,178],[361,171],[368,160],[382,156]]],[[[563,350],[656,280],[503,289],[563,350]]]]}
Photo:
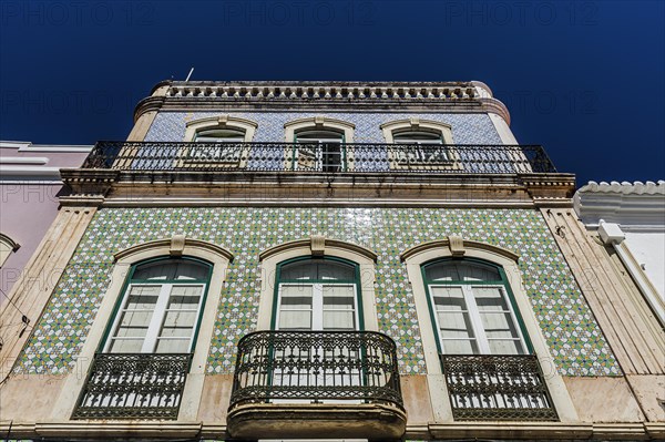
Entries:
{"type": "Polygon", "coordinates": [[[407,274],[413,292],[416,315],[420,323],[420,337],[428,372],[428,387],[432,400],[436,420],[452,422],[452,409],[448,400],[448,387],[441,370],[434,326],[431,321],[427,292],[422,279],[421,267],[424,263],[447,257],[473,257],[497,264],[505,271],[508,284],[514,295],[515,305],[524,321],[524,328],[544,374],[545,383],[552,395],[554,409],[562,422],[577,422],[577,413],[569,395],[563,378],[559,374],[550,354],[533,307],[522,282],[522,274],[518,267],[519,256],[510,250],[490,244],[464,240],[457,236],[447,239],[420,244],[405,250],[400,258],[407,265],[407,274]]]}

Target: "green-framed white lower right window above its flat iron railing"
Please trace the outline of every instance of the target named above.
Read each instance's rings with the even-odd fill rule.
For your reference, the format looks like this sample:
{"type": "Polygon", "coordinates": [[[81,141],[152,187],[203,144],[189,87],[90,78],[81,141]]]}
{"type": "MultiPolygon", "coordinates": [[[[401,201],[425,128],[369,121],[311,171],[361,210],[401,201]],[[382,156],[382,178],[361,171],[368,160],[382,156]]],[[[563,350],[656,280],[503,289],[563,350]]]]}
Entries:
{"type": "Polygon", "coordinates": [[[448,258],[422,266],[442,354],[529,354],[532,346],[501,266],[448,258]]]}

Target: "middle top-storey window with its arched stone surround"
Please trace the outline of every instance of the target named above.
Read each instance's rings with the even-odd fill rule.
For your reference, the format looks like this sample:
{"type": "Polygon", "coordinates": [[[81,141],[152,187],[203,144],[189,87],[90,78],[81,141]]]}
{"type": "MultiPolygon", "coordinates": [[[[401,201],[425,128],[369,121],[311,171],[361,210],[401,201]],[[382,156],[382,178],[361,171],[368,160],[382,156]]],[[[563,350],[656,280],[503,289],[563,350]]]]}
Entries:
{"type": "Polygon", "coordinates": [[[327,116],[315,116],[284,125],[285,168],[291,171],[345,172],[354,168],[355,125],[327,116]]]}

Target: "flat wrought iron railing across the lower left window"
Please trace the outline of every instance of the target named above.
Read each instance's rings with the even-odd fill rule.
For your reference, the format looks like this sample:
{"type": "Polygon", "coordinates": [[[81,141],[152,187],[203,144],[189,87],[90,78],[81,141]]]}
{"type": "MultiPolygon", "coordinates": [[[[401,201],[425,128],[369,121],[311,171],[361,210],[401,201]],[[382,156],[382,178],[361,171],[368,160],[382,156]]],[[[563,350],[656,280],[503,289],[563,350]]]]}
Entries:
{"type": "Polygon", "coordinates": [[[191,353],[98,353],[72,419],[177,419],[191,353]]]}

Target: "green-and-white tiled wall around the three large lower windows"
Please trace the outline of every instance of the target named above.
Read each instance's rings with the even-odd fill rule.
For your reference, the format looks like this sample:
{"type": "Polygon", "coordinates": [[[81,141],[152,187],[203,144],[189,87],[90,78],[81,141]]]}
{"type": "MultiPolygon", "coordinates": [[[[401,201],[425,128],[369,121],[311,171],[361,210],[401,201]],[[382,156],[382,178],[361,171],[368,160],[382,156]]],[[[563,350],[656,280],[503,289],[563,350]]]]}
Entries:
{"type": "Polygon", "coordinates": [[[448,235],[520,255],[525,290],[561,374],[621,373],[538,210],[342,207],[102,208],[79,244],[16,370],[73,370],[110,284],[112,255],[174,234],[211,241],[235,255],[218,306],[207,373],[232,373],[238,337],[256,328],[259,253],[310,235],[356,243],[378,253],[379,328],[397,341],[405,374],[426,373],[426,367],[413,294],[399,255],[448,235]]]}

